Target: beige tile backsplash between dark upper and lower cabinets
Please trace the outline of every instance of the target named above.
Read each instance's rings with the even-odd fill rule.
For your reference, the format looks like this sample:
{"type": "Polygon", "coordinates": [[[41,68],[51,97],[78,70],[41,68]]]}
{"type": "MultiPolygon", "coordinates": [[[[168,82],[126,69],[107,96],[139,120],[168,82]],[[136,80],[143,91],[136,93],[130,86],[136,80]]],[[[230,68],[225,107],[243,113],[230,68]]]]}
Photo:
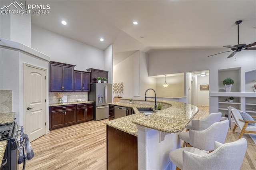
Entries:
{"type": "MultiPolygon", "coordinates": [[[[49,92],[49,104],[58,103],[58,98],[55,96],[57,92],[49,92]]],[[[76,91],[76,92],[61,92],[63,95],[67,95],[68,102],[76,102],[77,99],[83,99],[88,101],[88,92],[76,91]]]]}

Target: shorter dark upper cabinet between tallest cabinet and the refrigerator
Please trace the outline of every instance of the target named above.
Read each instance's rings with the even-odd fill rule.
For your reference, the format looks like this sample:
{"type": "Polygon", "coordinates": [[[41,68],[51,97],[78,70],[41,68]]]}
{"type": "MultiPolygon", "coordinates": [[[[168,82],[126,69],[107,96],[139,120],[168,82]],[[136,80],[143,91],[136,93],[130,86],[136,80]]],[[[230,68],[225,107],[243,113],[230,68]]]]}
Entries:
{"type": "Polygon", "coordinates": [[[90,91],[90,74],[85,71],[74,71],[74,91],[90,91]]]}

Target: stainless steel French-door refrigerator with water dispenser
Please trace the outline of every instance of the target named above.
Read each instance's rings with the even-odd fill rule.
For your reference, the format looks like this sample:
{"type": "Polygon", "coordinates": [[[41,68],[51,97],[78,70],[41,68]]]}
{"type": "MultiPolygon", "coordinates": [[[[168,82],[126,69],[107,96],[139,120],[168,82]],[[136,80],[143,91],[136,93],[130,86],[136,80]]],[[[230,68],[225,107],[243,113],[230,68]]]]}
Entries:
{"type": "Polygon", "coordinates": [[[93,83],[88,100],[94,101],[94,121],[108,118],[108,103],[112,102],[112,84],[93,83]]]}

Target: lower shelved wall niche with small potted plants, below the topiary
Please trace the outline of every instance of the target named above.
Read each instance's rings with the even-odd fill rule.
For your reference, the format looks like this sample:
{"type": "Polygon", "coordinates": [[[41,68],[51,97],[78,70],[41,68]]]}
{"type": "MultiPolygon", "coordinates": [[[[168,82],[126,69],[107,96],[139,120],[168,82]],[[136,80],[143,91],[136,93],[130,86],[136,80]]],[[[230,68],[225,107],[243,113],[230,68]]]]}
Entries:
{"type": "Polygon", "coordinates": [[[232,106],[236,109],[241,110],[241,97],[234,97],[233,102],[226,102],[225,99],[228,99],[229,97],[232,96],[221,96],[219,97],[219,112],[222,113],[222,117],[225,117],[225,115],[228,114],[228,107],[232,106]]]}

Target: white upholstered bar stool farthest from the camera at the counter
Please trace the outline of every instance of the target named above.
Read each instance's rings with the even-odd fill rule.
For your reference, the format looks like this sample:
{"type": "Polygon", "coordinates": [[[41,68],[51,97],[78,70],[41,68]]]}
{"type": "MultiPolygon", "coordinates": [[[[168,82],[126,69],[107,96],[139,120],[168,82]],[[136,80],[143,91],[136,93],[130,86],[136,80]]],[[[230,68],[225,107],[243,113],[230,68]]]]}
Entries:
{"type": "Polygon", "coordinates": [[[214,124],[215,122],[219,122],[221,119],[222,113],[210,113],[208,117],[200,120],[192,119],[190,123],[186,126],[187,131],[188,129],[192,130],[205,130],[206,128],[210,127],[210,125],[214,124]]]}

